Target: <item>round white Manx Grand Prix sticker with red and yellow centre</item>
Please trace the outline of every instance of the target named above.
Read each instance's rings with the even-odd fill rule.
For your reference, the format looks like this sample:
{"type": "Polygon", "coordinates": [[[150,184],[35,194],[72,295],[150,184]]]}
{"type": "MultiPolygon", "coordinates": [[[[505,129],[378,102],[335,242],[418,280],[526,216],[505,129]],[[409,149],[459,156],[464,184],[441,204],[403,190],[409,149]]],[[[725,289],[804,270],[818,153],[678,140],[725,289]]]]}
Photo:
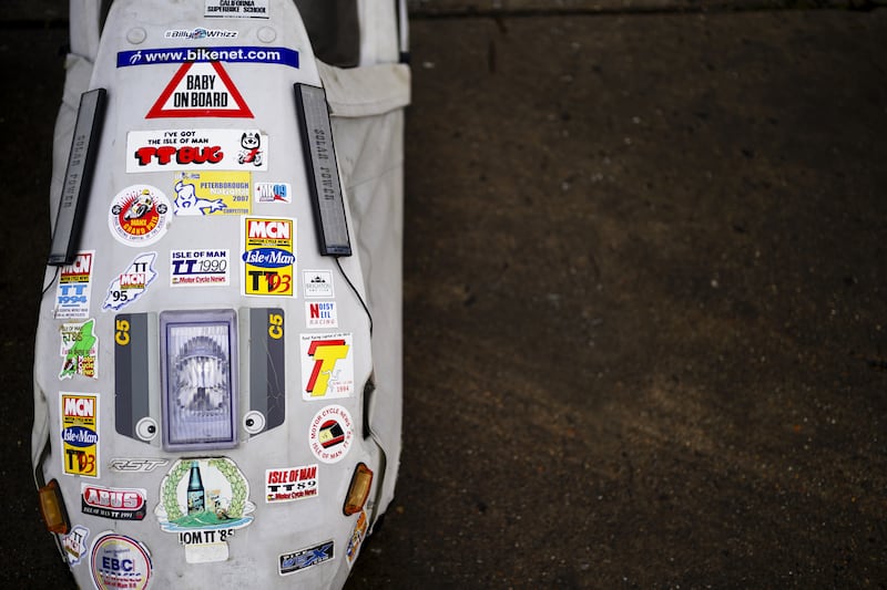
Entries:
{"type": "Polygon", "coordinates": [[[126,246],[149,246],[163,237],[170,220],[170,200],[151,185],[132,185],[114,197],[108,227],[126,246]]]}

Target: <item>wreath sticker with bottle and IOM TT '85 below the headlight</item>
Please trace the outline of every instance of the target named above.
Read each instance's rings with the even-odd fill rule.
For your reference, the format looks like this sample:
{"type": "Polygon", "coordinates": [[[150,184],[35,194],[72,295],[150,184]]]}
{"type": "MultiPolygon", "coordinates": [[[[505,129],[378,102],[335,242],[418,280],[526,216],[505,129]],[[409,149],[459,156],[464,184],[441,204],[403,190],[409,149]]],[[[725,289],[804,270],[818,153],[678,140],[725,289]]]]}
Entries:
{"type": "Polygon", "coordinates": [[[188,563],[227,559],[227,541],[253,521],[256,508],[246,477],[225,457],[176,460],[160,496],[160,527],[179,536],[188,563]]]}

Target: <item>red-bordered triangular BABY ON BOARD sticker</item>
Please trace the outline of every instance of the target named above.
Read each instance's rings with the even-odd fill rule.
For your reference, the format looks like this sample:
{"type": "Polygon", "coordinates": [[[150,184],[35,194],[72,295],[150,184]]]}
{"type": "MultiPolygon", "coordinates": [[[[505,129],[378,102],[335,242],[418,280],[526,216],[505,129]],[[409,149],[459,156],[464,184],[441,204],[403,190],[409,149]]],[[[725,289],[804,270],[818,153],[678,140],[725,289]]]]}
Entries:
{"type": "Polygon", "coordinates": [[[221,62],[183,63],[145,118],[192,116],[253,118],[221,62]]]}

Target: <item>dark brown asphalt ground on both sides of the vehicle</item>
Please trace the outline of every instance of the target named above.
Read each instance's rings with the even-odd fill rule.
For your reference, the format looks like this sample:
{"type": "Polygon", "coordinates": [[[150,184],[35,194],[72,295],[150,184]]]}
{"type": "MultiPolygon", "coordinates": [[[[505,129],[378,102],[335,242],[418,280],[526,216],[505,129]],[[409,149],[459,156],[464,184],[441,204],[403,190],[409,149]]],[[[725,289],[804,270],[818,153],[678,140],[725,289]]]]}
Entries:
{"type": "MultiPolygon", "coordinates": [[[[67,588],[29,475],[67,31],[13,24],[0,583],[67,588]]],[[[402,465],[349,588],[886,588],[887,9],[411,42],[402,465]]]]}

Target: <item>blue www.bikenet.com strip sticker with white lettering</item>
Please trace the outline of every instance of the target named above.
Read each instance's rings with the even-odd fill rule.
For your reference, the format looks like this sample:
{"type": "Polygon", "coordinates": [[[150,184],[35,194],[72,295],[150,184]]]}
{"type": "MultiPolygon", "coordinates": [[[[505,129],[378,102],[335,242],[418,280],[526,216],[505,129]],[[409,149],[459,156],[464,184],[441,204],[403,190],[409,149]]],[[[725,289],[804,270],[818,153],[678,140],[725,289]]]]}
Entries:
{"type": "Polygon", "coordinates": [[[118,52],[118,68],[185,62],[267,63],[298,68],[298,51],[289,48],[224,46],[136,49],[118,52]]]}

